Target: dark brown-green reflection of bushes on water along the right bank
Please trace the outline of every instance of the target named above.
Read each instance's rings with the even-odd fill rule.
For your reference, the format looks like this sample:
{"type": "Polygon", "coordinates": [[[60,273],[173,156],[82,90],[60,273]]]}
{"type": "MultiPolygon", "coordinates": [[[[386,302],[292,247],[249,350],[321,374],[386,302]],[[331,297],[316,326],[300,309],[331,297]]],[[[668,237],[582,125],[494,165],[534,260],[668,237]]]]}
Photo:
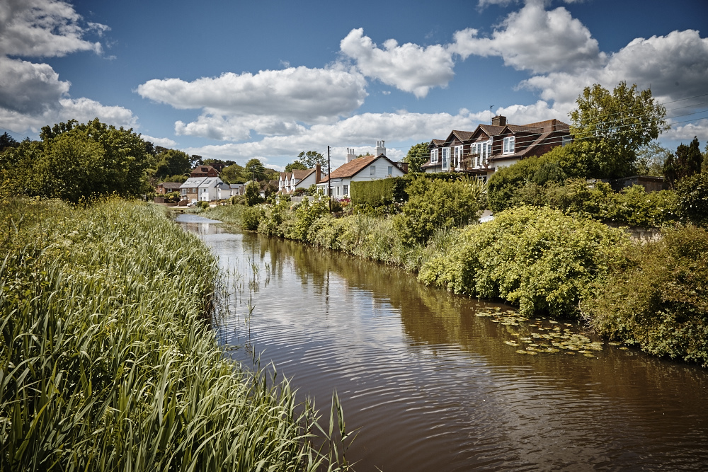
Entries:
{"type": "Polygon", "coordinates": [[[278,276],[282,275],[287,261],[303,287],[311,288],[316,294],[329,292],[332,273],[348,287],[367,292],[375,301],[392,306],[400,312],[411,345],[425,343],[433,352],[436,345],[457,346],[474,357],[483,357],[493,367],[506,366],[515,371],[518,367],[532,367],[528,372],[544,376],[553,388],[571,396],[601,394],[644,408],[663,401],[680,405],[684,411],[704,412],[690,421],[697,427],[700,422],[708,423],[708,410],[702,406],[702,398],[708,398],[708,375],[699,367],[666,362],[608,345],[598,353],[599,359],[562,352],[518,355],[516,347],[503,341],[517,339],[511,335],[515,331],[527,334],[524,326],[503,326],[474,315],[493,306],[503,309],[509,306],[431,289],[420,284],[414,275],[396,267],[311,248],[295,241],[251,235],[248,244],[262,259],[269,258],[278,276]]]}

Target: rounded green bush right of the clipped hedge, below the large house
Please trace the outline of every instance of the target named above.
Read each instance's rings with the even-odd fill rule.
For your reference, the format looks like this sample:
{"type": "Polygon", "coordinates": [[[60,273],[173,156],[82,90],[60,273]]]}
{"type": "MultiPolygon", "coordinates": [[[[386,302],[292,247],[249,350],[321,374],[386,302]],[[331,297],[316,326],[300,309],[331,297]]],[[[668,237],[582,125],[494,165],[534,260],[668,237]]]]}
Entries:
{"type": "Polygon", "coordinates": [[[479,180],[416,178],[408,186],[409,200],[394,217],[394,227],[410,246],[423,243],[439,228],[454,228],[475,221],[484,184],[479,180]]]}

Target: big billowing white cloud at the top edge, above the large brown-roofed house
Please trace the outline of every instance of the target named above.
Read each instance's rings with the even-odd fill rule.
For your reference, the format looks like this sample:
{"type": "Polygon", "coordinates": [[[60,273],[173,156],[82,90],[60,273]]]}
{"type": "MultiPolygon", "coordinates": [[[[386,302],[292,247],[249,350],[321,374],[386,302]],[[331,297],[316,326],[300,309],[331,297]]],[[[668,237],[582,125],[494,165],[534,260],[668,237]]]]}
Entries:
{"type": "Polygon", "coordinates": [[[471,54],[499,56],[504,64],[536,74],[583,71],[605,63],[590,30],[563,7],[547,11],[542,1],[529,1],[510,13],[491,38],[472,28],[457,31],[451,49],[463,59],[471,54]]]}

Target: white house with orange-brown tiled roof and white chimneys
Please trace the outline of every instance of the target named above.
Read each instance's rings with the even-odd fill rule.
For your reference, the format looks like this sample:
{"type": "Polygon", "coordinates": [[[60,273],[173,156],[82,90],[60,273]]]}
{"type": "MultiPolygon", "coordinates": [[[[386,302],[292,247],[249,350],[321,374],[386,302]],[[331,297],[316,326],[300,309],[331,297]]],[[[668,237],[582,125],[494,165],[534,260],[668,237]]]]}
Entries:
{"type": "Polygon", "coordinates": [[[324,195],[329,195],[328,189],[331,189],[331,196],[336,199],[350,197],[352,182],[400,177],[406,173],[400,163],[386,157],[383,141],[376,143],[375,156],[356,157],[354,149],[347,149],[347,153],[346,163],[317,183],[324,195]]]}

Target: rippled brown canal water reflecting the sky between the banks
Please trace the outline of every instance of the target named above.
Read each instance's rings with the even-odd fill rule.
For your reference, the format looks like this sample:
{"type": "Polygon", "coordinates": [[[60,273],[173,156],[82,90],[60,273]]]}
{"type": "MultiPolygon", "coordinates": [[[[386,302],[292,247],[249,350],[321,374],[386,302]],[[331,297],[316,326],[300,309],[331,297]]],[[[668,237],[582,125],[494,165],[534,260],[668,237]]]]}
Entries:
{"type": "Polygon", "coordinates": [[[523,355],[534,333],[587,333],[500,323],[479,315],[509,306],[392,267],[180,219],[230,275],[219,339],[245,366],[273,362],[326,420],[336,390],[355,470],[708,470],[705,369],[607,343],[523,355]]]}

